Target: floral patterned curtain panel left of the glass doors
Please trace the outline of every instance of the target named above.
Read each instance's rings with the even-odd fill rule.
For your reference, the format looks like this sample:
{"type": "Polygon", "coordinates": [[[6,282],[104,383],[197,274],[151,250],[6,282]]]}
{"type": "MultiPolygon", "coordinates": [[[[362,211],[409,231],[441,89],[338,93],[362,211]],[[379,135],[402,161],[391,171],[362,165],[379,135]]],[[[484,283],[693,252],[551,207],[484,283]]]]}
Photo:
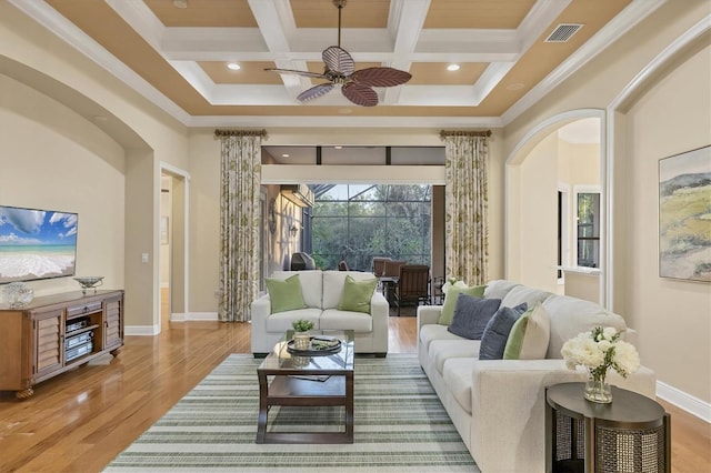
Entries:
{"type": "Polygon", "coordinates": [[[261,134],[216,134],[222,141],[218,316],[246,322],[259,290],[261,134]]]}

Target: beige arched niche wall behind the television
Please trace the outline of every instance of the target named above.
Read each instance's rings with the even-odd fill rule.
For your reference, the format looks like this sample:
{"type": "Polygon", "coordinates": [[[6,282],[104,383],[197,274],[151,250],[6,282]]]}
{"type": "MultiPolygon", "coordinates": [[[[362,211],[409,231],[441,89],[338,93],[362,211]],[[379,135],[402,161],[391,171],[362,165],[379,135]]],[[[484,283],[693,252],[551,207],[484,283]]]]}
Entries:
{"type": "MultiPolygon", "coordinates": [[[[77,275],[123,288],[124,155],[52,99],[0,74],[0,204],[79,214],[77,275]]],[[[32,281],[36,295],[79,290],[71,278],[32,281]]]]}

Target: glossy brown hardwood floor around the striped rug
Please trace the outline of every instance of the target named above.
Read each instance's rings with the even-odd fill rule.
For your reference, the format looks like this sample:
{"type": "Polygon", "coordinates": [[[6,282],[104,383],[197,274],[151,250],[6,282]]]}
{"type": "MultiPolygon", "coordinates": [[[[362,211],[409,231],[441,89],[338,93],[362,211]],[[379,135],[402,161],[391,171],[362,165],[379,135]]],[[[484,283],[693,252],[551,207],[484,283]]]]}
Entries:
{"type": "MultiPolygon", "coordinates": [[[[390,318],[390,352],[415,352],[415,320],[390,318]]],[[[18,401],[0,393],[0,472],[94,472],[163,415],[230,353],[248,353],[250,325],[168,322],[127,336],[107,364],[64,373],[18,401]]],[[[672,414],[672,472],[711,472],[711,425],[672,414]]]]}

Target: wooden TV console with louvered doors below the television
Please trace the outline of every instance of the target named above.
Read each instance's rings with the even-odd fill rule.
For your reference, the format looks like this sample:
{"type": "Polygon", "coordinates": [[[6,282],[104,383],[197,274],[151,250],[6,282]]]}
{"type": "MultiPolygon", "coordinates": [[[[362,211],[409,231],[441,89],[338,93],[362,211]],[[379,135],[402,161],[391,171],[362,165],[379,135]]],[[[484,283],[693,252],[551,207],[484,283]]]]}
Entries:
{"type": "Polygon", "coordinates": [[[123,291],[87,290],[0,305],[0,391],[32,386],[123,346],[123,291]]]}

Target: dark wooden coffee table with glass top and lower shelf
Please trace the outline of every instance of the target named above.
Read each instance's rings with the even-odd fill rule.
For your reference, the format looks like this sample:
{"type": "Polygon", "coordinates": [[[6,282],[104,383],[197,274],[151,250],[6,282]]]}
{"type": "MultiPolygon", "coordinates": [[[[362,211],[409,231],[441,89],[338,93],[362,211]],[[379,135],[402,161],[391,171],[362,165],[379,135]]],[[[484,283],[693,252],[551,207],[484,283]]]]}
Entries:
{"type": "Polygon", "coordinates": [[[293,332],[277,343],[257,369],[259,416],[257,443],[353,443],[353,331],[311,331],[312,335],[336,336],[340,351],[313,356],[294,355],[288,350],[293,332]],[[297,378],[299,376],[299,378],[297,378]],[[313,381],[301,376],[322,376],[313,381]],[[272,405],[346,406],[344,432],[267,432],[272,405]]]}

